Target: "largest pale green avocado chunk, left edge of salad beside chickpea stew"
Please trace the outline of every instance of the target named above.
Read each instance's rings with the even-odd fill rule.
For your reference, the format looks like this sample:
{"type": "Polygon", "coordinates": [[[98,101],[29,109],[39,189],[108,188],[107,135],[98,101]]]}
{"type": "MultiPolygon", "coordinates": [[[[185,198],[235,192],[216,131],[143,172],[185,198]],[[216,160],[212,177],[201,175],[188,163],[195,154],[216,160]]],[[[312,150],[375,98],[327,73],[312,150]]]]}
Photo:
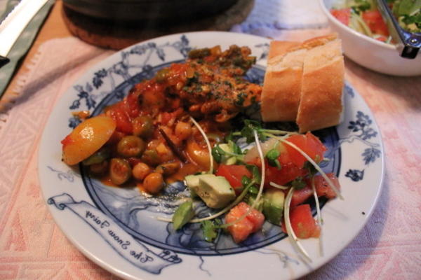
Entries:
{"type": "Polygon", "coordinates": [[[223,176],[214,174],[190,175],[185,178],[186,185],[199,195],[210,208],[222,208],[235,199],[235,192],[223,176]]]}

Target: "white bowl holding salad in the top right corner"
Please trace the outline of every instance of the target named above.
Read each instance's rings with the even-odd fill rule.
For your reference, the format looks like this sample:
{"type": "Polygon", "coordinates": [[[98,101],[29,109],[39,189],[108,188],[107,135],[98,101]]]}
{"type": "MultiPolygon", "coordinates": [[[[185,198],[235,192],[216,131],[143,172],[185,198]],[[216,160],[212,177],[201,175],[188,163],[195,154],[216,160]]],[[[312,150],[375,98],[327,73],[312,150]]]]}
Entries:
{"type": "Polygon", "coordinates": [[[330,14],[334,0],[319,0],[323,13],[328,17],[330,28],[342,39],[345,55],[368,69],[394,76],[421,75],[421,53],[415,59],[399,56],[394,45],[377,41],[347,27],[330,14]]]}

